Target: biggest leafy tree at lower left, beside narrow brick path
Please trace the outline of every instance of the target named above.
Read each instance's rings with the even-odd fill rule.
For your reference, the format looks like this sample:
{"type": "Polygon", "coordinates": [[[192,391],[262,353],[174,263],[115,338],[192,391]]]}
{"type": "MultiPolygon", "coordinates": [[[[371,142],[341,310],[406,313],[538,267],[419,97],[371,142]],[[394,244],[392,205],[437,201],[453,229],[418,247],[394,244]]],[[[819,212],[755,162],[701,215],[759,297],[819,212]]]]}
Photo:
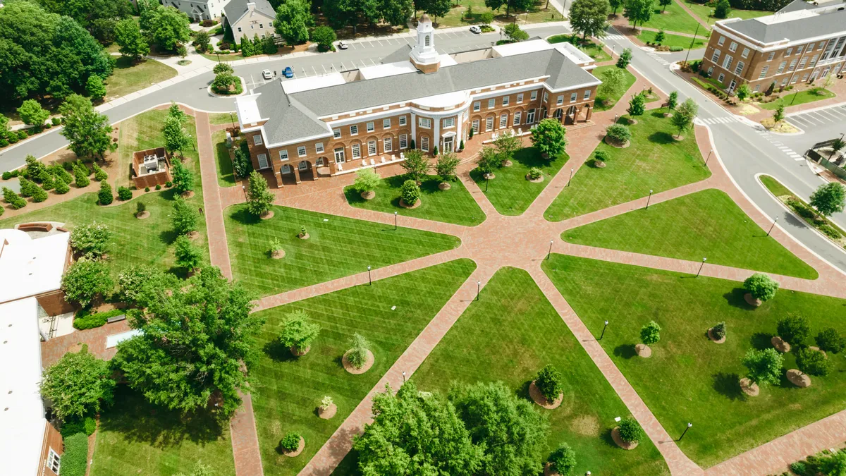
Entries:
{"type": "Polygon", "coordinates": [[[212,267],[159,287],[145,309],[128,313],[141,333],[118,344],[113,364],[153,404],[191,412],[219,396],[215,410],[228,417],[241,404],[239,391],[250,391],[242,366],[255,362],[263,324],[250,313],[253,298],[212,267]]]}

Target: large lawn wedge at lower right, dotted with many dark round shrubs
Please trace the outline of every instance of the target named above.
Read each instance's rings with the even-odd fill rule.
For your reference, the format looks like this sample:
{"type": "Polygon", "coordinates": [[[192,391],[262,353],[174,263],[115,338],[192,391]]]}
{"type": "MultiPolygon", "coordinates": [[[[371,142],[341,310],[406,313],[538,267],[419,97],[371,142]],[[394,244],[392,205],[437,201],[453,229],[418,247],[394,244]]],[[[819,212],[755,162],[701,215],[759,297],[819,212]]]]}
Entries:
{"type": "MultiPolygon", "coordinates": [[[[812,335],[828,327],[846,333],[846,301],[781,290],[752,309],[735,281],[556,254],[543,268],[594,335],[610,321],[600,343],[664,429],[677,435],[693,423],[678,446],[702,468],[846,405],[842,355],[830,356],[832,373],[813,377],[806,389],[783,379],[752,398],[738,384],[745,374],[741,358],[752,347],[771,346],[778,319],[801,313],[810,318],[812,335]],[[651,320],[662,327],[661,341],[651,346],[650,359],[636,357],[640,327],[651,320]],[[706,331],[720,321],[728,339],[715,344],[706,331]]],[[[793,354],[785,355],[784,368],[795,368],[793,354]]]]}

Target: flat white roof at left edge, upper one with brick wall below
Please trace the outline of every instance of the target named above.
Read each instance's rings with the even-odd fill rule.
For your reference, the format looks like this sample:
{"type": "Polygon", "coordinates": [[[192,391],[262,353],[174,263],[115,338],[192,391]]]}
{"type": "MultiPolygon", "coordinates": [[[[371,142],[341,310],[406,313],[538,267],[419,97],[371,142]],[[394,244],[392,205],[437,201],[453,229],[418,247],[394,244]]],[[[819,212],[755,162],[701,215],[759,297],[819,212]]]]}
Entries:
{"type": "Polygon", "coordinates": [[[69,239],[69,233],[34,239],[21,230],[0,230],[0,302],[58,290],[69,239]]]}

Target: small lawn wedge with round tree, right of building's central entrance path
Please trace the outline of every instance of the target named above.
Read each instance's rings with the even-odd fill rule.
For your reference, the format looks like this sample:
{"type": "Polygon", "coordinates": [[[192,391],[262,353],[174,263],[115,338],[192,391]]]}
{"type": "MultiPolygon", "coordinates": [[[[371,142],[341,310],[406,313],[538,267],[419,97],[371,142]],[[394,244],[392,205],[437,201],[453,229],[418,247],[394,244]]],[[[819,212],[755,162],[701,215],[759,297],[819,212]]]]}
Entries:
{"type": "Polygon", "coordinates": [[[503,215],[520,215],[529,208],[531,202],[535,201],[568,160],[566,152],[554,160],[545,160],[535,147],[525,147],[514,153],[514,165],[494,171],[496,177],[493,180],[485,180],[479,169],[470,170],[470,178],[479,185],[497,212],[503,215]],[[526,180],[525,176],[532,167],[543,171],[544,180],[539,184],[526,180]],[[485,184],[486,181],[489,183],[485,184]]]}

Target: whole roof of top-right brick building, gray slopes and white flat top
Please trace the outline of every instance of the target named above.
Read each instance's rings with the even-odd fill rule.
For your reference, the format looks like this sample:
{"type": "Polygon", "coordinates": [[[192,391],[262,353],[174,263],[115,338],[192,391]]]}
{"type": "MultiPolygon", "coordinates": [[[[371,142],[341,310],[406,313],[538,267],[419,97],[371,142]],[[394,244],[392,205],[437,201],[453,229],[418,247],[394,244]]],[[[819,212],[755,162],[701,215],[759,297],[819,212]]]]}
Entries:
{"type": "Polygon", "coordinates": [[[785,13],[718,24],[763,43],[797,41],[846,31],[846,9],[798,7],[785,13]]]}

